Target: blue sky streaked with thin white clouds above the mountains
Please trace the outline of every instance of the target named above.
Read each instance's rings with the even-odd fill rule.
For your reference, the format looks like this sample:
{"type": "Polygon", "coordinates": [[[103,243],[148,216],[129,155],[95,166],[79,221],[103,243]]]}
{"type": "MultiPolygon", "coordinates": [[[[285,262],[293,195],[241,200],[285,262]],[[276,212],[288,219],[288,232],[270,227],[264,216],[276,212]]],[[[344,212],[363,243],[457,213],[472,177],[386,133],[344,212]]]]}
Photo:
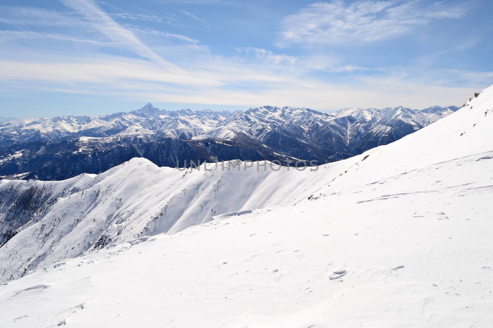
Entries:
{"type": "Polygon", "coordinates": [[[461,105],[492,2],[0,0],[0,116],[461,105]]]}

